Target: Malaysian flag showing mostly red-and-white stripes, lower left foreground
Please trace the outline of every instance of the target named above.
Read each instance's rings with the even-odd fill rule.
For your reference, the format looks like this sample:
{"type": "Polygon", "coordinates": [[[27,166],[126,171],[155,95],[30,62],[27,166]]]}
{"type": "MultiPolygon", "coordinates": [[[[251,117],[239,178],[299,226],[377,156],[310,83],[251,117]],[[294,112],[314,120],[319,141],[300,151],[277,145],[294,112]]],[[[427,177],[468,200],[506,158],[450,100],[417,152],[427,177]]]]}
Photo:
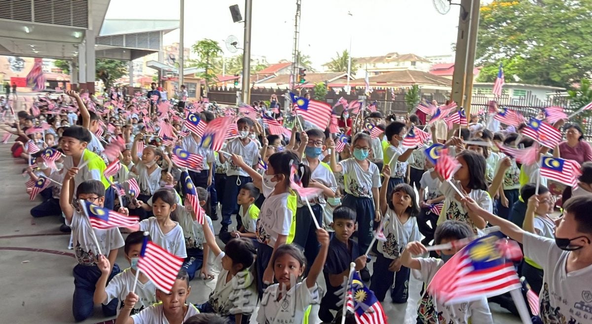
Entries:
{"type": "Polygon", "coordinates": [[[183,258],[170,254],[169,251],[144,237],[144,243],[138,261],[138,270],[145,274],[156,287],[169,294],[175,284],[183,258]]]}

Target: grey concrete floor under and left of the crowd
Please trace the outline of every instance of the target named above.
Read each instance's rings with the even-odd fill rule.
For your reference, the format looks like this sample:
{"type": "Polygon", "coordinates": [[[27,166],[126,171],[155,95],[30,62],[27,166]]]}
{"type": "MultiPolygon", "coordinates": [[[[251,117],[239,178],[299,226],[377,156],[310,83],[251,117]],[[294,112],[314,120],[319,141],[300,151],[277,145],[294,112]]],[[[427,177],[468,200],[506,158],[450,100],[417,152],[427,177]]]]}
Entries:
{"type": "MultiPolygon", "coordinates": [[[[30,216],[30,208],[40,201],[28,200],[25,179],[20,173],[26,166],[25,162],[11,158],[10,146],[0,146],[0,174],[4,178],[0,186],[0,206],[4,210],[0,213],[0,273],[3,274],[0,276],[0,287],[4,295],[0,303],[0,323],[73,323],[72,268],[76,261],[72,251],[66,248],[69,235],[59,232],[61,220],[58,217],[33,219],[30,216]]],[[[214,228],[218,232],[219,221],[215,222],[214,228]]],[[[121,254],[123,250],[118,264],[127,267],[121,254]]],[[[322,277],[319,278],[320,285],[324,285],[322,277]]],[[[194,279],[191,285],[189,300],[204,303],[215,281],[194,279]]],[[[407,304],[392,304],[387,297],[382,306],[389,323],[415,323],[420,288],[421,284],[412,279],[407,304]]],[[[517,317],[500,309],[497,304],[490,307],[496,323],[520,323],[517,317]]],[[[255,316],[252,319],[255,323],[255,316]]],[[[94,316],[82,323],[105,320],[100,307],[95,307],[94,316]]],[[[318,319],[310,321],[318,322],[318,319]]]]}

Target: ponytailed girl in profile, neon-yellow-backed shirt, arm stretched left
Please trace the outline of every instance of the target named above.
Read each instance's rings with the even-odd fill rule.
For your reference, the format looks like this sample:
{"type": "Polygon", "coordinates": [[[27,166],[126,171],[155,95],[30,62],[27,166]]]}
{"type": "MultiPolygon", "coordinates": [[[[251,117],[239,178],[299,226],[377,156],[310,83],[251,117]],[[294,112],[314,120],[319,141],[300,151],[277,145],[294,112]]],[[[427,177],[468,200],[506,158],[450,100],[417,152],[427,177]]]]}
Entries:
{"type": "MultiPolygon", "coordinates": [[[[292,163],[300,161],[291,151],[274,153],[269,156],[267,170],[260,175],[244,163],[238,155],[232,155],[234,165],[240,166],[253,178],[253,184],[258,187],[265,197],[260,208],[259,219],[255,234],[259,242],[256,258],[258,273],[257,288],[259,296],[263,294],[263,284],[274,281],[274,254],[276,249],[294,238],[292,219],[295,213],[295,196],[289,188],[289,177],[292,163]],[[293,197],[293,198],[292,198],[293,197]]],[[[300,169],[299,165],[298,169],[300,169]]],[[[306,177],[306,175],[301,175],[306,177]]]]}

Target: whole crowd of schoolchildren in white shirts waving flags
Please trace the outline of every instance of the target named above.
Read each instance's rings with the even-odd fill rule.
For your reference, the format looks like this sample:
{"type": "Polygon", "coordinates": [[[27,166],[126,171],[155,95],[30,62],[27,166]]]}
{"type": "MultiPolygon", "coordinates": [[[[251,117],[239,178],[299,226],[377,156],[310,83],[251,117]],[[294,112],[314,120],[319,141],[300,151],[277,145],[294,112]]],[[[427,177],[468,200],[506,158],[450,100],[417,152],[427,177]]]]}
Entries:
{"type": "MultiPolygon", "coordinates": [[[[43,199],[31,216],[63,216],[60,230],[72,233],[76,322],[101,304],[116,323],[300,324],[316,303],[323,322],[340,322],[350,263],[378,301],[390,291],[392,303],[407,303],[411,275],[429,284],[462,248],[429,253],[427,246],[474,238],[493,225],[523,245],[525,258],[516,266],[540,295],[538,320],[592,323],[592,162],[581,166],[578,186],[565,190],[556,217],[556,195],[538,164],[520,163],[500,148],[527,149],[536,141],[511,127],[492,133],[485,118],[442,135],[442,121],[430,127],[414,115],[401,120],[359,109],[357,123],[340,121],[343,134],[301,129],[298,121],[291,131],[270,134],[260,114],[282,118],[275,104],[276,111],[252,108],[259,114],[253,118],[207,101],[173,107],[140,95],[110,98],[74,91],[40,97],[5,127],[17,136],[14,158],[28,163],[27,190],[43,199]],[[214,152],[184,125],[188,114],[204,124],[235,116],[234,133],[214,152]],[[419,131],[431,138],[405,145],[419,131]],[[429,150],[438,143],[459,165],[451,180],[435,171],[429,150]],[[201,165],[176,165],[177,149],[201,156],[201,165]],[[117,161],[117,172],[105,172],[117,161]],[[314,188],[314,197],[301,197],[294,181],[314,188]],[[189,182],[207,213],[202,224],[182,198],[189,182]],[[93,206],[140,222],[96,229],[85,216],[93,206]],[[146,238],[184,259],[170,293],[138,272],[146,238]],[[115,262],[120,248],[126,269],[115,262]],[[211,267],[219,273],[208,301],[189,303],[191,281],[214,278],[211,267]]],[[[334,114],[347,118],[343,110],[334,114]]],[[[291,111],[285,113],[287,125],[291,111]]],[[[542,146],[536,160],[548,151],[542,146]]],[[[422,290],[417,323],[469,322],[493,323],[485,297],[451,305],[422,290]]]]}

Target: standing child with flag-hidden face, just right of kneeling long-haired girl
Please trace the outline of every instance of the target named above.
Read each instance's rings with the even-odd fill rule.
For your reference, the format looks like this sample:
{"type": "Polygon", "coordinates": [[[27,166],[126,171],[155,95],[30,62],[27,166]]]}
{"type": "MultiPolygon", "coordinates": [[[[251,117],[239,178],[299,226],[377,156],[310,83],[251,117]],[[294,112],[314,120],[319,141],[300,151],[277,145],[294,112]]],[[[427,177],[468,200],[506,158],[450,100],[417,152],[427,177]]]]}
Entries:
{"type": "Polygon", "coordinates": [[[426,158],[424,158],[424,160],[426,161],[427,171],[424,172],[422,179],[419,181],[419,206],[421,207],[421,210],[419,212],[419,216],[417,217],[417,227],[419,227],[419,232],[424,236],[422,244],[429,245],[429,243],[432,242],[434,238],[436,222],[440,216],[439,214],[436,214],[430,210],[430,205],[442,203],[445,197],[442,195],[442,193],[440,193],[439,188],[441,182],[438,178],[437,172],[434,170],[432,161],[426,158]],[[430,222],[431,226],[428,226],[427,222],[430,222]]]}

